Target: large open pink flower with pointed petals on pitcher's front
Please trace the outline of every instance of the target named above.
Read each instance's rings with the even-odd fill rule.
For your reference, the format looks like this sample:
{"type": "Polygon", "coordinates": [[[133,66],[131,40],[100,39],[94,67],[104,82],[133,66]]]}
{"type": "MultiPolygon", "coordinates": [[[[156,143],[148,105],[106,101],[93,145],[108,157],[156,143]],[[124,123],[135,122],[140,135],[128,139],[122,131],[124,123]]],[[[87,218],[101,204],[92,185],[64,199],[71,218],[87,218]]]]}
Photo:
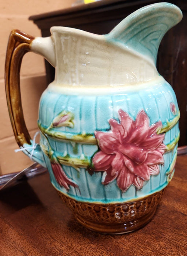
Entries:
{"type": "Polygon", "coordinates": [[[104,172],[104,185],[116,179],[123,192],[132,184],[141,189],[150,175],[159,174],[159,164],[164,163],[165,134],[157,134],[162,123],[149,126],[144,110],[137,114],[135,121],[121,109],[118,114],[120,123],[109,120],[111,131],[95,131],[100,148],[93,157],[95,171],[104,172]]]}

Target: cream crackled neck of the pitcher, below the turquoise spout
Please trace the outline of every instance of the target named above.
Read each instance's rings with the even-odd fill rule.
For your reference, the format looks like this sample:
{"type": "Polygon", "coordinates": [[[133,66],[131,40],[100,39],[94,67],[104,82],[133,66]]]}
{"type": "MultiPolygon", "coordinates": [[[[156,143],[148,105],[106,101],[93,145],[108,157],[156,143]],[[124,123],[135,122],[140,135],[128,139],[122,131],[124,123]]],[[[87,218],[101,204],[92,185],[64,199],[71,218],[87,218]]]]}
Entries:
{"type": "Polygon", "coordinates": [[[56,83],[72,86],[112,86],[146,82],[158,76],[154,62],[125,45],[88,37],[84,31],[54,35],[56,83]]]}

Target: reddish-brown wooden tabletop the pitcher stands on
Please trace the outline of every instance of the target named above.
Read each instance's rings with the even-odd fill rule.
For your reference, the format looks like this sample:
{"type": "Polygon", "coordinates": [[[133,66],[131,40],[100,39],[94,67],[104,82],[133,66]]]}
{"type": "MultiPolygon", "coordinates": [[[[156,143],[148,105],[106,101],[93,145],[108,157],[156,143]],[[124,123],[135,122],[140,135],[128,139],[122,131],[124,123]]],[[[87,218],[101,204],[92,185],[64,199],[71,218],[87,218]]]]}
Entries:
{"type": "Polygon", "coordinates": [[[0,192],[0,255],[187,255],[187,155],[152,221],[122,235],[85,229],[50,184],[49,174],[0,192]]]}

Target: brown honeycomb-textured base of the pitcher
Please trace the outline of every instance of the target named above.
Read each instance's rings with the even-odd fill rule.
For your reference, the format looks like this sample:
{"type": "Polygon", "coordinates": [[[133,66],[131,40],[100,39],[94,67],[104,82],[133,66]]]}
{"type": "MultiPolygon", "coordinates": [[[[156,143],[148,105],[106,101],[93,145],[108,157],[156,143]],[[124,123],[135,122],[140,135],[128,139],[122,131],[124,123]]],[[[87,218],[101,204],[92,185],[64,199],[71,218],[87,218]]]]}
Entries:
{"type": "Polygon", "coordinates": [[[145,226],[153,217],[167,187],[152,195],[126,203],[86,203],[58,194],[83,226],[107,234],[132,232],[145,226]]]}

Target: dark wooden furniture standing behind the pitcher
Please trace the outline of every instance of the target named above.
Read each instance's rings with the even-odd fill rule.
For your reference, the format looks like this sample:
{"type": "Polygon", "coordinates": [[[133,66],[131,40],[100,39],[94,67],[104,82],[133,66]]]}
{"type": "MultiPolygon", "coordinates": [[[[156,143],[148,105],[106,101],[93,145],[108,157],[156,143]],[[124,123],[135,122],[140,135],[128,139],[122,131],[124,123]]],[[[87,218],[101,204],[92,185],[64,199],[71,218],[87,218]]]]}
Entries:
{"type": "MultiPolygon", "coordinates": [[[[31,16],[43,37],[50,27],[67,26],[96,34],[106,34],[131,12],[160,0],[103,0],[66,10],[31,16]]],[[[187,145],[187,2],[168,0],[183,11],[183,20],[164,36],[158,54],[157,68],[172,85],[178,99],[180,117],[179,146],[187,145]]],[[[54,80],[54,68],[46,62],[47,82],[54,80]]],[[[187,149],[187,148],[186,148],[187,149]]]]}

